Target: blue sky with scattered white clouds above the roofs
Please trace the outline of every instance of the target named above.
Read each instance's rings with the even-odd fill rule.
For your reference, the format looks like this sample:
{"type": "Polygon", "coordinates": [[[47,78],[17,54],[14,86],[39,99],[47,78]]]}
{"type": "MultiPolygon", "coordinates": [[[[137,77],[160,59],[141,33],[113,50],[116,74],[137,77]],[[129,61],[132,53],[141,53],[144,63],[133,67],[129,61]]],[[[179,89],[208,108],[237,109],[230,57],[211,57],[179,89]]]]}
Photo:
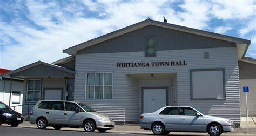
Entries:
{"type": "Polygon", "coordinates": [[[0,67],[67,57],[63,49],[150,17],[251,39],[256,58],[256,1],[0,1],[0,67]]]}

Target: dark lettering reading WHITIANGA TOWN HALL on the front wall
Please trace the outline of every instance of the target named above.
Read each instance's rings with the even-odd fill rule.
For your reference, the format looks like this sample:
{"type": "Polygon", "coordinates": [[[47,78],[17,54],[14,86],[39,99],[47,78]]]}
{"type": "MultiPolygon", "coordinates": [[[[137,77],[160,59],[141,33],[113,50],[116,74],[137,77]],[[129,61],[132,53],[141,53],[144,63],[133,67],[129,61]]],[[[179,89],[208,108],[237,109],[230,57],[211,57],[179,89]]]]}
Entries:
{"type": "Polygon", "coordinates": [[[138,63],[117,63],[117,67],[158,67],[158,66],[182,66],[187,65],[186,61],[166,62],[138,62],[138,63]]]}

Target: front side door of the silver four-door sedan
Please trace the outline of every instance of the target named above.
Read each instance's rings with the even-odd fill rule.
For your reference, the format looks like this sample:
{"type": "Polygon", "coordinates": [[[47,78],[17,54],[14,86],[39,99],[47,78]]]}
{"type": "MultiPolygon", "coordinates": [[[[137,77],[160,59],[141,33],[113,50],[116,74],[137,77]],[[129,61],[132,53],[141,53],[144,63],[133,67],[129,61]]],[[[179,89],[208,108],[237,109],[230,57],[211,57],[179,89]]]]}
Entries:
{"type": "Polygon", "coordinates": [[[180,130],[204,131],[204,127],[203,116],[198,116],[197,111],[190,107],[180,107],[180,130]]]}

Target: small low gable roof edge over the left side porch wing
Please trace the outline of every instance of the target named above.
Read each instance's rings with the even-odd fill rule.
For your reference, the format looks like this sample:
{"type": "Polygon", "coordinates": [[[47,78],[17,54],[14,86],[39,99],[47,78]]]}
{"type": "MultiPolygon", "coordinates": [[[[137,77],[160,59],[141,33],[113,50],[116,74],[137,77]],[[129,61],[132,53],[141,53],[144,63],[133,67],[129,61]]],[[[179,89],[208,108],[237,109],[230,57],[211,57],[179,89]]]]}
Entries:
{"type": "Polygon", "coordinates": [[[43,65],[46,65],[46,66],[50,66],[50,67],[52,67],[52,68],[54,68],[54,69],[58,69],[58,70],[61,70],[61,71],[65,71],[65,72],[68,72],[68,73],[71,73],[71,74],[75,74],[75,71],[66,69],[65,67],[58,66],[58,65],[54,65],[54,64],[45,63],[45,62],[42,62],[42,61],[38,61],[38,62],[29,64],[29,65],[20,67],[19,69],[10,71],[10,72],[8,72],[8,73],[5,73],[5,75],[11,77],[12,74],[15,74],[15,73],[18,73],[18,72],[22,72],[22,71],[24,71],[24,70],[30,69],[31,67],[38,66],[38,65],[40,65],[40,64],[43,64],[43,65]]]}

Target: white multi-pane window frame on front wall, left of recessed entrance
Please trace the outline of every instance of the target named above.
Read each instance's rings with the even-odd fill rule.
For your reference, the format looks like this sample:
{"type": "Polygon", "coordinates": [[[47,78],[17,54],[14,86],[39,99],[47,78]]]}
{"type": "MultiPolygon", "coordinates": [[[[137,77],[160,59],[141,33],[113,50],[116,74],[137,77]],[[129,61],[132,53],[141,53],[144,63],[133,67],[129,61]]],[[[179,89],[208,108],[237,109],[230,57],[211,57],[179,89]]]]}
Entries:
{"type": "Polygon", "coordinates": [[[89,72],[89,73],[85,73],[85,99],[87,100],[111,100],[111,99],[105,99],[104,98],[104,87],[112,87],[112,92],[111,92],[111,99],[113,99],[113,72],[89,72]],[[97,73],[103,73],[103,85],[95,85],[95,79],[96,79],[96,74],[97,73]],[[104,79],[105,79],[105,73],[111,73],[112,74],[112,85],[104,85],[104,79]],[[87,74],[94,74],[94,85],[87,85],[87,74]],[[93,98],[86,98],[86,91],[87,91],[87,86],[89,87],[93,87],[93,98]],[[103,87],[103,93],[102,93],[102,99],[96,99],[95,98],[95,86],[97,87],[103,87]]]}

